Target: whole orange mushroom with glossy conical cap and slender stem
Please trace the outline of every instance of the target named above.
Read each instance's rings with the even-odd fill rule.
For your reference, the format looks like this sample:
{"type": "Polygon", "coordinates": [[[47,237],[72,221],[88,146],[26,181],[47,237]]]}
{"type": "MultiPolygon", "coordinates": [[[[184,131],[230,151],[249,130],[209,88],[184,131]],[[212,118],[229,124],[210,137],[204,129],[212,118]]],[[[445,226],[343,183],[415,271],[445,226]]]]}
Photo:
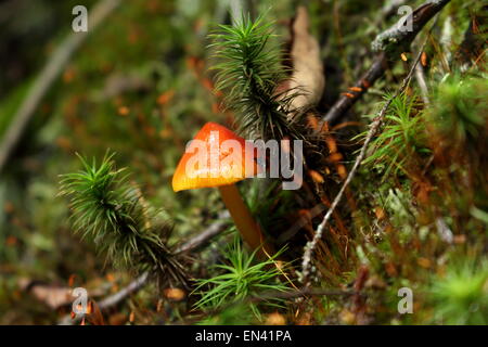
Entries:
{"type": "Polygon", "coordinates": [[[243,240],[253,249],[262,246],[267,254],[272,255],[271,246],[265,243],[259,224],[235,187],[236,182],[258,171],[254,146],[251,145],[247,144],[246,150],[243,138],[218,124],[207,123],[187,146],[172,177],[172,190],[218,187],[243,240]]]}

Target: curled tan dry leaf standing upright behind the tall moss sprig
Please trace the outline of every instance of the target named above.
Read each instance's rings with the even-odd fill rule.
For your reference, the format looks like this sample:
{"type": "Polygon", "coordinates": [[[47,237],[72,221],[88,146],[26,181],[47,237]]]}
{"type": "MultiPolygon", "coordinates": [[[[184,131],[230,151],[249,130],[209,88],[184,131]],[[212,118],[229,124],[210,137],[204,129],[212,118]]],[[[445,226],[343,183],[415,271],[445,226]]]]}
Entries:
{"type": "Polygon", "coordinates": [[[310,108],[320,101],[325,87],[325,76],[320,60],[319,42],[310,35],[308,12],[304,7],[297,9],[291,31],[293,43],[290,55],[293,74],[288,80],[278,86],[278,90],[290,90],[283,98],[299,93],[291,103],[293,116],[297,111],[310,108]]]}

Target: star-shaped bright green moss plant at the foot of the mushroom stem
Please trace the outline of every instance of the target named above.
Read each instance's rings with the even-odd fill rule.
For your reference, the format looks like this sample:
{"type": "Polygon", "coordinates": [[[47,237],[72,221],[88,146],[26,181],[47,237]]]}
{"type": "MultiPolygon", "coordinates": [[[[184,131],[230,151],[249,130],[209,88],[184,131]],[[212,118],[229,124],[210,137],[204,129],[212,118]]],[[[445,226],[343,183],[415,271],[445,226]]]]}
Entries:
{"type": "MultiPolygon", "coordinates": [[[[281,252],[267,260],[258,261],[256,250],[248,254],[242,248],[240,240],[235,239],[223,252],[223,257],[229,264],[214,267],[221,273],[210,279],[197,280],[193,294],[201,294],[202,298],[195,307],[203,310],[216,310],[256,297],[266,291],[290,291],[290,287],[279,279],[283,270],[277,267],[275,258],[280,254],[281,252]]],[[[267,306],[281,306],[279,299],[264,299],[261,303],[267,306]]],[[[258,305],[253,301],[248,305],[253,313],[260,319],[258,305]]]]}

